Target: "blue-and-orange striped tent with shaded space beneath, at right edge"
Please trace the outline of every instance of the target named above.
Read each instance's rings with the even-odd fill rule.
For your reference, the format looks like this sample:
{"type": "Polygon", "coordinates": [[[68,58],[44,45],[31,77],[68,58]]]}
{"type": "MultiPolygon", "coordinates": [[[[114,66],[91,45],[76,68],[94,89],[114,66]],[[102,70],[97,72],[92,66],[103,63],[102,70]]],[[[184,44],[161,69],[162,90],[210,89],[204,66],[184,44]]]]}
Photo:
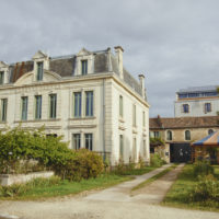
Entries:
{"type": "Polygon", "coordinates": [[[219,164],[219,131],[215,131],[192,145],[192,161],[209,160],[219,164]]]}

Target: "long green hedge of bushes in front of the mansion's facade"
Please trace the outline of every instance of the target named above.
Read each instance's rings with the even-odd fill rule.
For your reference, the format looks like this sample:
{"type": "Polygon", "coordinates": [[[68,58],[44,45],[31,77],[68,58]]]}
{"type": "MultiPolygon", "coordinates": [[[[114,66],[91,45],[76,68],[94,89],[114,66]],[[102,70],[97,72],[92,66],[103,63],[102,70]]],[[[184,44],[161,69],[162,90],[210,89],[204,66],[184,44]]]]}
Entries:
{"type": "Polygon", "coordinates": [[[61,139],[47,137],[43,129],[27,131],[20,126],[5,134],[0,132],[0,173],[48,169],[61,178],[80,181],[96,177],[103,171],[99,154],[85,149],[73,151],[61,139]],[[30,161],[37,166],[31,166],[30,161]]]}

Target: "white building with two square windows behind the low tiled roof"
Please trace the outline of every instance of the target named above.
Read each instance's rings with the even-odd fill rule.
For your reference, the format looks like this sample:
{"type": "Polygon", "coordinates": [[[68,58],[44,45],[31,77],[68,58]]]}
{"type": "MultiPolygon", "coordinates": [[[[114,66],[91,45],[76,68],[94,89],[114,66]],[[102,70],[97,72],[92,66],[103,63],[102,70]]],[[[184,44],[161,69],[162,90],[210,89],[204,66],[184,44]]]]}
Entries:
{"type": "Polygon", "coordinates": [[[195,87],[176,92],[175,117],[217,116],[219,113],[217,88],[195,87]]]}

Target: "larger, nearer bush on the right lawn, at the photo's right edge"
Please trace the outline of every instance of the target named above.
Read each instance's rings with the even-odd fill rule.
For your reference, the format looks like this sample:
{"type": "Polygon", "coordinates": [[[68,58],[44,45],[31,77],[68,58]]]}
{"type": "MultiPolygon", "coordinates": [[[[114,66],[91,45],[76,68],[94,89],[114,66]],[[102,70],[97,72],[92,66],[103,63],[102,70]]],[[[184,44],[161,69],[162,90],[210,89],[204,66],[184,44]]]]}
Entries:
{"type": "Polygon", "coordinates": [[[199,182],[191,191],[193,201],[219,201],[219,182],[212,176],[198,176],[199,182]]]}

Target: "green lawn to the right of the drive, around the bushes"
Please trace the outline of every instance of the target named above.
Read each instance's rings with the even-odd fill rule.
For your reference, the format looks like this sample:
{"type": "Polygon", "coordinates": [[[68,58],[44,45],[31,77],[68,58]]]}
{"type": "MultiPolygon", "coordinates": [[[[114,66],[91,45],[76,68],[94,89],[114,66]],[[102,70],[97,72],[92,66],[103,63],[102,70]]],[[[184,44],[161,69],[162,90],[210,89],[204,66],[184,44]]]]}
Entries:
{"type": "MultiPolygon", "coordinates": [[[[215,165],[215,174],[219,180],[219,166],[215,165]]],[[[193,174],[193,164],[186,164],[178,175],[178,178],[172,185],[171,189],[166,194],[162,205],[192,208],[199,210],[214,210],[219,211],[219,203],[216,201],[188,201],[188,197],[192,188],[197,184],[197,178],[193,174]]]]}

